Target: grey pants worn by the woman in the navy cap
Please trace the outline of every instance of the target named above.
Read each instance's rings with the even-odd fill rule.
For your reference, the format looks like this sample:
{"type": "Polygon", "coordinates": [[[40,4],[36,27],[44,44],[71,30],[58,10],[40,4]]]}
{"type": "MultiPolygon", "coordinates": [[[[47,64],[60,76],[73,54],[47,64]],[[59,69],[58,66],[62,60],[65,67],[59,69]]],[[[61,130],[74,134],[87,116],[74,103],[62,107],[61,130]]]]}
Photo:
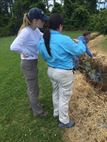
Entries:
{"type": "Polygon", "coordinates": [[[27,84],[27,94],[34,115],[38,115],[43,112],[42,106],[38,101],[39,86],[37,63],[38,60],[36,59],[21,60],[21,68],[27,84]]]}

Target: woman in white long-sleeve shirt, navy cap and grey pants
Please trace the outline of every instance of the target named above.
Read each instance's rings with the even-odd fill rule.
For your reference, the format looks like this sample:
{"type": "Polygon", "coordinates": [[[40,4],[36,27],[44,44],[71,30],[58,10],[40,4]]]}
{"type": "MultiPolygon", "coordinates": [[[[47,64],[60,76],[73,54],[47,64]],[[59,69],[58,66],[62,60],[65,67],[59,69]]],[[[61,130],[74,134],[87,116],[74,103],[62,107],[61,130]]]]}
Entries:
{"type": "Polygon", "coordinates": [[[39,28],[42,28],[47,16],[39,8],[32,8],[24,15],[23,24],[18,36],[10,46],[12,51],[21,55],[21,68],[27,83],[27,93],[30,107],[34,116],[44,116],[45,113],[39,103],[38,87],[38,50],[37,45],[42,37],[39,28]]]}

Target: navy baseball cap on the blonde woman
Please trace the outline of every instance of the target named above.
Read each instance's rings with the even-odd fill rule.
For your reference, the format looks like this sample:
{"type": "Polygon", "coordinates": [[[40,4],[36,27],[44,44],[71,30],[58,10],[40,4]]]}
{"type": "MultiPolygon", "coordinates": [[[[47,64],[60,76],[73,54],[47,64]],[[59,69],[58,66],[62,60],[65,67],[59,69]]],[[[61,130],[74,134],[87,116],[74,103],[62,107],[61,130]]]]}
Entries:
{"type": "Polygon", "coordinates": [[[30,21],[33,19],[41,19],[43,21],[48,20],[48,16],[44,14],[44,12],[39,8],[31,8],[28,12],[28,18],[30,21]]]}

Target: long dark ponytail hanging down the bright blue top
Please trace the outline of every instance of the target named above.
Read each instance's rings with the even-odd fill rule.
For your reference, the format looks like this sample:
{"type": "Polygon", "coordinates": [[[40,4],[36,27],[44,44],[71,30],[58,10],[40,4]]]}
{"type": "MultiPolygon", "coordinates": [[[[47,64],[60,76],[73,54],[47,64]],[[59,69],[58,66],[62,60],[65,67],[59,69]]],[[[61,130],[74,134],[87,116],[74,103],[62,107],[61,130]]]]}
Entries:
{"type": "Polygon", "coordinates": [[[47,52],[48,54],[51,56],[51,50],[50,50],[50,30],[47,29],[45,32],[44,32],[44,35],[43,35],[43,38],[44,38],[44,42],[45,42],[45,46],[46,46],[46,49],[47,49],[47,52]]]}

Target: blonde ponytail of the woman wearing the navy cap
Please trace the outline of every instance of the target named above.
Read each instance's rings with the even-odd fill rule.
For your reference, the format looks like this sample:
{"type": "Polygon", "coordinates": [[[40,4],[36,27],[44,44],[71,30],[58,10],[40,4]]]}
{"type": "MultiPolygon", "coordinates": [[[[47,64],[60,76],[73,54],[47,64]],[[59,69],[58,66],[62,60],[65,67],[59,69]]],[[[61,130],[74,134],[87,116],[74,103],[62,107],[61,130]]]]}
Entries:
{"type": "Polygon", "coordinates": [[[29,18],[28,18],[28,15],[27,15],[27,13],[25,13],[25,14],[24,14],[24,17],[23,17],[23,23],[22,23],[22,25],[21,25],[21,27],[20,27],[20,29],[19,29],[19,31],[18,31],[18,34],[20,33],[20,31],[21,31],[23,28],[29,26],[30,24],[31,24],[31,22],[30,22],[30,20],[29,20],[29,18]]]}

